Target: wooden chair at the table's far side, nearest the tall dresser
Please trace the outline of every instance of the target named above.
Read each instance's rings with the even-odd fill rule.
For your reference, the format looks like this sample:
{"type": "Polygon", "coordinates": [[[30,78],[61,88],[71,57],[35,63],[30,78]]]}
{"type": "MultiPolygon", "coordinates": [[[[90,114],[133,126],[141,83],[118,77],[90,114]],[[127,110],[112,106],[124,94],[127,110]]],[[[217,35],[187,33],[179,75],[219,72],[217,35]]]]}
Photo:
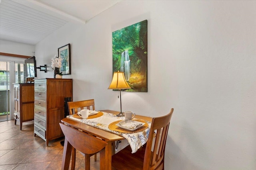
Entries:
{"type": "MultiPolygon", "coordinates": [[[[68,102],[68,110],[69,110],[70,115],[76,114],[77,112],[81,111],[82,109],[95,110],[94,99],[82,100],[82,101],[76,101],[76,102],[68,102]]],[[[95,154],[94,161],[96,161],[96,160],[97,160],[97,155],[95,154]]],[[[72,149],[72,170],[75,168],[75,164],[76,164],[76,149],[73,147],[73,149],[72,149]]],[[[87,164],[90,167],[90,159],[87,164]]]]}

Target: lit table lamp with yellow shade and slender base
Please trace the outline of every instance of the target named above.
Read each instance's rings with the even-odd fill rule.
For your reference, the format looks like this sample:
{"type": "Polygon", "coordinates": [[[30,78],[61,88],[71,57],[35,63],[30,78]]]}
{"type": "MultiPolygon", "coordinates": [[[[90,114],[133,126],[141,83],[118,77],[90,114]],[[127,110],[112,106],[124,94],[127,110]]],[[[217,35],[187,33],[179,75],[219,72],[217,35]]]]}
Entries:
{"type": "Polygon", "coordinates": [[[121,90],[131,88],[124,78],[124,72],[114,72],[112,82],[110,83],[108,89],[118,89],[120,92],[120,107],[121,111],[117,116],[124,116],[122,113],[122,101],[121,101],[121,90]]]}

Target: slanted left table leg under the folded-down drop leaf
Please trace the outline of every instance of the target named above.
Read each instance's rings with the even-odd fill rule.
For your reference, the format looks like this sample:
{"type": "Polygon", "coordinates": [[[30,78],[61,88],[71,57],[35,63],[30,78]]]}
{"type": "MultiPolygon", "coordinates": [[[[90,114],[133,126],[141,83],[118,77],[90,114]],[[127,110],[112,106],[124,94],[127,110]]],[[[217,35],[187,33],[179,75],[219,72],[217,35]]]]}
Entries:
{"type": "Polygon", "coordinates": [[[73,147],[68,142],[68,139],[65,138],[61,170],[68,170],[72,148],[73,147]]]}

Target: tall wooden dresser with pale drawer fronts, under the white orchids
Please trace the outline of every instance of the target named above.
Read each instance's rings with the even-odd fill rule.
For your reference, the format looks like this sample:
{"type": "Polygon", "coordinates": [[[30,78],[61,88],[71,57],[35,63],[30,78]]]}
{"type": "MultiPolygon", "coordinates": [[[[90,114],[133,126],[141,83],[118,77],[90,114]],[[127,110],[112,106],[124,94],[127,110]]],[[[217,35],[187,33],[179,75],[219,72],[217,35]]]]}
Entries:
{"type": "Polygon", "coordinates": [[[64,98],[73,98],[72,79],[35,79],[34,136],[48,146],[49,141],[63,137],[59,122],[64,118],[64,98]]]}

